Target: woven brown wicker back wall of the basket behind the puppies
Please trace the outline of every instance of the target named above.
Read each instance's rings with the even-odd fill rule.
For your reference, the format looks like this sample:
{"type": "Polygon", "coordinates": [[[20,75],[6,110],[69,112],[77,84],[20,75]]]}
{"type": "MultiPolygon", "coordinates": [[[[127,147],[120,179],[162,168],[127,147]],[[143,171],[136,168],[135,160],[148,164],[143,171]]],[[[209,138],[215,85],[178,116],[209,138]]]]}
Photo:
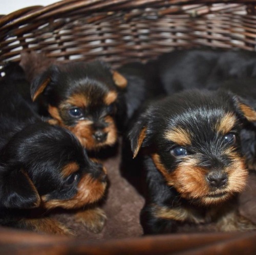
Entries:
{"type": "Polygon", "coordinates": [[[0,17],[0,64],[22,51],[118,66],[177,48],[255,50],[255,1],[65,0],[0,17]],[[225,3],[223,3],[225,2],[225,3]]]}

